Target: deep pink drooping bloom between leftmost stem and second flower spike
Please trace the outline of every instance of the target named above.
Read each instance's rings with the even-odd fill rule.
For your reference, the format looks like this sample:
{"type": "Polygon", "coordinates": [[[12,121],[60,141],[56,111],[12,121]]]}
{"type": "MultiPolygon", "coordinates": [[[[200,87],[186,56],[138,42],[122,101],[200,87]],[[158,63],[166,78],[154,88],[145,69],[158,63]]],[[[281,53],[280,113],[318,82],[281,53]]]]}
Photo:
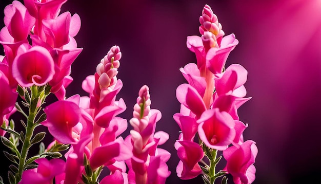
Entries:
{"type": "Polygon", "coordinates": [[[72,127],[79,122],[81,116],[78,105],[69,101],[57,101],[48,105],[44,111],[47,120],[42,124],[48,127],[51,135],[64,144],[74,142],[72,127]]]}

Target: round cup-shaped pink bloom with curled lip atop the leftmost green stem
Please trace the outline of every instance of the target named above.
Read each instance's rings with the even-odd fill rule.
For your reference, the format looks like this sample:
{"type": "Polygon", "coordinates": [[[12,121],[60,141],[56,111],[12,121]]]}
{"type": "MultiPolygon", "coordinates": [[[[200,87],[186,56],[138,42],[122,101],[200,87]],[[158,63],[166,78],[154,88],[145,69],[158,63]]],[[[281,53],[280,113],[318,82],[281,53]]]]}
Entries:
{"type": "Polygon", "coordinates": [[[54,63],[49,51],[34,46],[19,54],[12,63],[12,75],[23,87],[45,85],[54,75],[54,63]]]}

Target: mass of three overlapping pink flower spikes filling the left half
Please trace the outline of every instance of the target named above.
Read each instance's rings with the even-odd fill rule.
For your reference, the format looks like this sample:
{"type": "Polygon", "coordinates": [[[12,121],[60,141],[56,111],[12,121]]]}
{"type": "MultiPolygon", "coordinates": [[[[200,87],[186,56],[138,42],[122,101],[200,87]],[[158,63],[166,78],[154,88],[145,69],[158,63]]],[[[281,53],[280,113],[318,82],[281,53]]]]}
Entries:
{"type": "Polygon", "coordinates": [[[108,169],[110,174],[100,183],[165,183],[170,175],[166,165],[170,153],[157,146],[169,135],[155,133],[161,114],[156,109],[150,111],[147,86],[139,91],[139,104],[134,107],[130,121],[134,130],[126,142],[120,136],[128,123],[117,117],[126,109],[122,98],[116,100],[123,87],[116,77],[122,58],[118,46],[111,47],[94,75],[84,80],[82,87],[89,96],[66,98],[66,87],[72,81],[71,64],[82,48],[77,48],[74,39],[81,27],[79,16],[59,14],[65,2],[26,0],[23,5],[13,1],[5,8],[6,26],[0,32],[5,50],[0,62],[0,118],[4,122],[1,135],[10,133],[9,139],[1,137],[2,142],[13,151],[4,152],[13,162],[9,182],[97,183],[102,170],[108,169]],[[42,104],[50,93],[58,101],[46,106],[42,114],[42,104]],[[16,103],[18,95],[28,113],[16,103]],[[21,121],[25,132],[17,133],[13,121],[9,123],[15,111],[27,119],[27,123],[21,121]],[[140,111],[144,116],[137,117],[140,111]],[[138,129],[135,120],[143,123],[138,129]],[[39,125],[48,128],[54,141],[47,148],[42,143],[39,154],[28,157],[29,148],[45,137],[45,132],[33,135],[39,125]],[[19,142],[23,143],[21,150],[19,142]],[[68,150],[65,159],[58,159],[64,150],[68,150]]]}

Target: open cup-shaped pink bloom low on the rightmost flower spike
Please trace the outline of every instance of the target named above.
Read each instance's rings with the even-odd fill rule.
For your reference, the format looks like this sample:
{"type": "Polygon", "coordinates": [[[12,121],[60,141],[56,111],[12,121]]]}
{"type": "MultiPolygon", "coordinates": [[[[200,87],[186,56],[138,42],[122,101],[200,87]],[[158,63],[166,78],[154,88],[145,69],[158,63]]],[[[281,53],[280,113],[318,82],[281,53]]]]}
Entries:
{"type": "Polygon", "coordinates": [[[227,112],[209,109],[197,120],[199,138],[215,150],[226,150],[235,138],[235,122],[227,112]]]}

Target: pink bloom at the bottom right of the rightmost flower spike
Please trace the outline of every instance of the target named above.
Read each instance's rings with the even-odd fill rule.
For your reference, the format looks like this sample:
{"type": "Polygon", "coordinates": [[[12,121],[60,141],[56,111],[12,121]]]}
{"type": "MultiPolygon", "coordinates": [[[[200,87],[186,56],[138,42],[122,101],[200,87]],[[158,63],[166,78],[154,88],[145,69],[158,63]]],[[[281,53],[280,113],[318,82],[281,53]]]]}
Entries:
{"type": "Polygon", "coordinates": [[[255,157],[257,155],[257,147],[252,140],[245,141],[237,148],[231,146],[223,151],[223,156],[227,160],[225,171],[233,176],[236,184],[252,183],[255,179],[255,157]]]}

